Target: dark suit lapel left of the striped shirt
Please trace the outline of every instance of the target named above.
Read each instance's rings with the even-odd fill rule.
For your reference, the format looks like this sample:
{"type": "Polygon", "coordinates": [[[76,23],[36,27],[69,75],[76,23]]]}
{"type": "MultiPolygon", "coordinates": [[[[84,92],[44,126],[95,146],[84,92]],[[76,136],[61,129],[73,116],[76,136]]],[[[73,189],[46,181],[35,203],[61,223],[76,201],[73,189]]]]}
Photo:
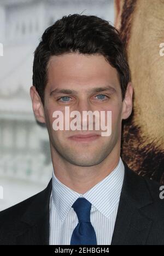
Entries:
{"type": "Polygon", "coordinates": [[[49,244],[50,194],[51,180],[22,216],[16,244],[49,244]]]}

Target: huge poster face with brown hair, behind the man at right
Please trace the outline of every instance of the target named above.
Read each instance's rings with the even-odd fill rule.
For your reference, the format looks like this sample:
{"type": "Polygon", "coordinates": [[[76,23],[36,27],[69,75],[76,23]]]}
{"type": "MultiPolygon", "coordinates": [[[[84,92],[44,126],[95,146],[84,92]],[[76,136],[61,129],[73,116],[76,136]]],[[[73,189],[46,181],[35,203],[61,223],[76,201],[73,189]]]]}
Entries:
{"type": "Polygon", "coordinates": [[[163,0],[115,0],[115,26],[126,45],[134,87],[121,157],[138,174],[164,184],[163,0]],[[153,159],[153,162],[152,162],[153,159]]]}

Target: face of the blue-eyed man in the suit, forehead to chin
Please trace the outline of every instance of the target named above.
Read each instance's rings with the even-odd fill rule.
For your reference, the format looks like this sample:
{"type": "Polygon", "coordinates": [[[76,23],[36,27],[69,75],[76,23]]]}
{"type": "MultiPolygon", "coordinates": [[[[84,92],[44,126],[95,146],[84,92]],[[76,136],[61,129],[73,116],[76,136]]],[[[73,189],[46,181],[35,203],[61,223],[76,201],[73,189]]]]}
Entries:
{"type": "MultiPolygon", "coordinates": [[[[44,93],[44,115],[50,137],[51,151],[78,166],[99,164],[115,147],[120,147],[121,120],[127,118],[126,103],[122,102],[116,69],[102,55],[68,53],[52,56],[48,63],[48,84],[44,93]],[[108,89],[104,90],[103,87],[108,89]],[[95,90],[97,90],[96,92],[95,90]],[[69,90],[61,92],[61,90],[69,90]],[[101,129],[57,130],[52,128],[56,110],[63,113],[91,110],[112,111],[112,134],[101,136],[101,129]],[[74,140],[72,136],[96,133],[93,140],[74,140]]],[[[70,119],[71,120],[71,119],[70,119]]],[[[82,119],[81,119],[82,123],[82,119]]],[[[64,122],[65,127],[65,122],[64,122]]],[[[94,127],[94,126],[93,126],[94,127]]],[[[87,127],[88,128],[88,127],[87,127]]],[[[119,150],[119,149],[118,149],[119,150]]]]}

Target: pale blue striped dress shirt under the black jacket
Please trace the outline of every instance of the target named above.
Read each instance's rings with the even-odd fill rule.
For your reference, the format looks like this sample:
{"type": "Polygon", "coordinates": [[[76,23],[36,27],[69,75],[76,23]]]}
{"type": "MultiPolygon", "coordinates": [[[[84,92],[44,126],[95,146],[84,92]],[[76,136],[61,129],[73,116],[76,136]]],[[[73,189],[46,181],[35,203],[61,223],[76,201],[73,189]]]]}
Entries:
{"type": "Polygon", "coordinates": [[[78,217],[72,205],[79,197],[85,197],[92,204],[91,224],[96,232],[97,244],[110,244],[118,212],[124,171],[124,164],[120,157],[116,168],[84,194],[77,193],[64,185],[53,171],[49,244],[70,244],[73,230],[78,224],[78,217]]]}

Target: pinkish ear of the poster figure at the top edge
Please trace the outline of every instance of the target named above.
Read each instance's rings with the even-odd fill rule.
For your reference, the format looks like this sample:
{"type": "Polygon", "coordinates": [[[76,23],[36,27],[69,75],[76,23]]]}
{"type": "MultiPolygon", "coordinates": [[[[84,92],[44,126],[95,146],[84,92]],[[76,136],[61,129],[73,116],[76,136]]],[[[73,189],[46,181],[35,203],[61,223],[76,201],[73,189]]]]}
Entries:
{"type": "Polygon", "coordinates": [[[116,29],[121,27],[121,14],[125,0],[114,0],[114,26],[116,29]]]}

